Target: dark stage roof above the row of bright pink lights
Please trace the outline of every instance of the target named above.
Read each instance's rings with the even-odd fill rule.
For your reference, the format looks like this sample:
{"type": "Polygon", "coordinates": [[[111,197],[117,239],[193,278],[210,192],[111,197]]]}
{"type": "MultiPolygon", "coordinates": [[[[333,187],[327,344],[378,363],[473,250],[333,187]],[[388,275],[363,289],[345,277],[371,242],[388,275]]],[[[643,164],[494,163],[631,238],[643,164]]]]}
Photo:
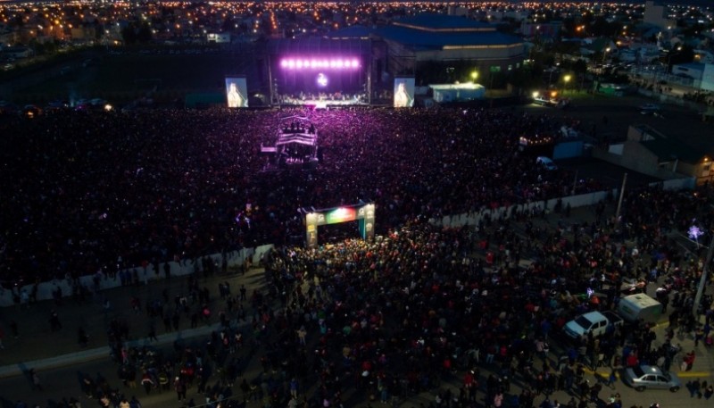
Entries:
{"type": "Polygon", "coordinates": [[[281,38],[268,42],[268,52],[277,55],[369,55],[372,46],[369,39],[360,38],[281,38]]]}

